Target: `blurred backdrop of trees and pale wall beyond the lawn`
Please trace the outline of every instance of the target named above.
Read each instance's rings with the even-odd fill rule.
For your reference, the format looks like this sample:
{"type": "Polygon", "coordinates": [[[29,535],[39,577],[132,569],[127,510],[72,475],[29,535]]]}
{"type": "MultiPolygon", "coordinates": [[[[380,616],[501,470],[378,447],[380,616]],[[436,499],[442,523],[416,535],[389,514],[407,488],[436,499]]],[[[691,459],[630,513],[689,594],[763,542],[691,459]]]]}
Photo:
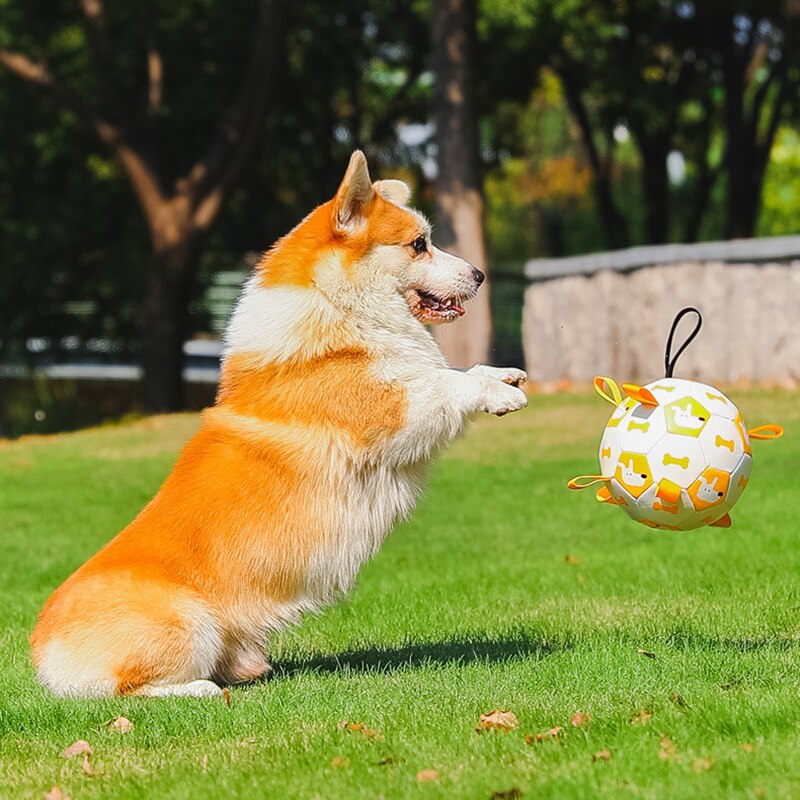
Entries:
{"type": "Polygon", "coordinates": [[[799,38],[800,0],[0,0],[0,436],[211,402],[354,148],[490,274],[455,365],[655,374],[680,300],[690,372],[794,385],[799,38]]]}

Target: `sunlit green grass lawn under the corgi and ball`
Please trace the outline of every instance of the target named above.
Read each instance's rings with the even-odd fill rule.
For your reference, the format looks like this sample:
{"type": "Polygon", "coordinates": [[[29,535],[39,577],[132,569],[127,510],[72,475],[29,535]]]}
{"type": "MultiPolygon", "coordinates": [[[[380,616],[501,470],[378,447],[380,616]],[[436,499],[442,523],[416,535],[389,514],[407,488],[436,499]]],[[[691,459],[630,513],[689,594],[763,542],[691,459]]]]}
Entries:
{"type": "Polygon", "coordinates": [[[608,408],[534,397],[452,447],[349,599],[276,637],[274,679],[230,707],[56,700],[28,660],[47,595],[197,418],[0,444],[0,796],[797,798],[800,396],[731,394],[787,435],[755,443],[730,530],[657,533],[567,491],[608,408]],[[495,708],[519,726],[476,733],[495,708]],[[106,727],[118,715],[130,733],[106,727]],[[76,739],[94,776],[59,755],[76,739]]]}

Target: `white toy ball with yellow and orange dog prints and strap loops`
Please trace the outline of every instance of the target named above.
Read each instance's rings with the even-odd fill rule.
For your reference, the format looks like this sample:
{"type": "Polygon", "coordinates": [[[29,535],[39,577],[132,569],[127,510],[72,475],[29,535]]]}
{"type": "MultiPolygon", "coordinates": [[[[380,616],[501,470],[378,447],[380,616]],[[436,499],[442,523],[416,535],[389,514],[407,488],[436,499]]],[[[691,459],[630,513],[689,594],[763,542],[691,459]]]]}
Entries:
{"type": "Polygon", "coordinates": [[[610,378],[595,378],[595,389],[615,409],[600,441],[600,475],[573,478],[570,489],[602,483],[598,501],[619,506],[651,528],[730,527],[728,512],[750,479],[750,440],[776,439],[783,429],[762,425],[748,431],[739,410],[718,389],[672,377],[678,356],[701,324],[694,308],[675,318],[667,340],[667,377],[646,386],[625,383],[622,392],[610,378]],[[697,325],[670,360],[675,328],[691,312],[697,325]]]}

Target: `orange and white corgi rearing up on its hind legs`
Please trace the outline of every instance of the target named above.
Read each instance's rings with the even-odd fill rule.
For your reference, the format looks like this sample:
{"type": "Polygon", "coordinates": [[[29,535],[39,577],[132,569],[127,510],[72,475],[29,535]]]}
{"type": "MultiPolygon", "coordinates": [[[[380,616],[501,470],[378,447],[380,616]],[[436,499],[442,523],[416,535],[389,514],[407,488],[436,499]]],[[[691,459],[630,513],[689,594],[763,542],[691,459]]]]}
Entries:
{"type": "Polygon", "coordinates": [[[334,198],[261,259],[216,404],[144,510],[58,588],[31,636],[57,695],[215,696],[270,669],[270,633],[340,597],[426,466],[525,373],[450,369],[427,326],[484,276],[431,244],[401,181],[353,154],[334,198]]]}

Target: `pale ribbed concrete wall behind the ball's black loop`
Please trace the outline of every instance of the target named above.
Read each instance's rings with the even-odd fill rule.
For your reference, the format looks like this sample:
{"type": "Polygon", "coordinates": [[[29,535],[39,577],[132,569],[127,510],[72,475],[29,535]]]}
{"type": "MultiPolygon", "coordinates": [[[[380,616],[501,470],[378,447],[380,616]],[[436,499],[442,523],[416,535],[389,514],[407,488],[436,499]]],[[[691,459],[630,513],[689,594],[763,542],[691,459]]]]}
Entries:
{"type": "MultiPolygon", "coordinates": [[[[797,386],[800,237],[783,239],[797,240],[796,258],[628,263],[624,271],[602,261],[592,271],[584,260],[582,274],[562,271],[559,277],[538,279],[537,262],[530,262],[527,274],[533,282],[525,293],[523,346],[531,382],[546,389],[586,384],[595,375],[639,382],[658,378],[664,374],[672,319],[684,306],[694,305],[704,324],[681,356],[677,377],[797,386]]],[[[752,250],[753,243],[748,245],[752,250]]],[[[693,319],[681,323],[674,347],[691,330],[693,319]]]]}

